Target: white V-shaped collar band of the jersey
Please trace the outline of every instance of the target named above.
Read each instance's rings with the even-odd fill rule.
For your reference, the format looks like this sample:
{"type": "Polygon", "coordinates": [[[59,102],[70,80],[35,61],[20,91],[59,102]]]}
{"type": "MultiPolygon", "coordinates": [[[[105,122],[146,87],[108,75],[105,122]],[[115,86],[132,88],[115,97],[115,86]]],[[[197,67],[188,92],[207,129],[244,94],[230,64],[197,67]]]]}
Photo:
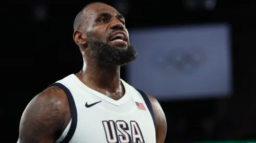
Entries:
{"type": "Polygon", "coordinates": [[[82,88],[84,88],[85,90],[89,91],[90,93],[92,93],[92,94],[98,96],[99,98],[101,98],[101,99],[103,99],[103,100],[105,100],[105,101],[108,101],[109,103],[112,103],[113,105],[120,106],[120,105],[122,105],[123,103],[125,103],[125,102],[127,101],[127,99],[129,98],[129,91],[130,91],[130,90],[129,90],[129,86],[128,86],[128,84],[127,84],[125,81],[123,81],[122,79],[120,79],[120,80],[121,80],[121,82],[122,82],[122,84],[123,84],[123,86],[124,86],[124,90],[125,90],[124,96],[123,96],[122,98],[120,98],[119,100],[114,100],[114,99],[112,99],[112,98],[110,98],[110,97],[108,97],[108,96],[106,96],[106,95],[104,95],[104,94],[102,94],[102,93],[99,93],[99,92],[97,92],[96,90],[91,89],[90,87],[86,86],[82,81],[80,81],[80,80],[78,79],[78,77],[77,77],[75,74],[71,74],[71,76],[73,76],[73,79],[74,79],[82,88]]]}

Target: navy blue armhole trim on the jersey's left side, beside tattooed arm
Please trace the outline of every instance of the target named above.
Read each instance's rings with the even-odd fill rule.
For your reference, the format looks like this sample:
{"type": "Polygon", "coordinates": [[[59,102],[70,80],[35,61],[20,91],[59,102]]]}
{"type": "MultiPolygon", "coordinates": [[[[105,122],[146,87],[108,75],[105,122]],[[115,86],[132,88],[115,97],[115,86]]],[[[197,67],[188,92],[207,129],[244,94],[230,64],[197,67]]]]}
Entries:
{"type": "MultiPolygon", "coordinates": [[[[50,86],[58,86],[60,87],[62,90],[64,90],[65,94],[67,95],[67,98],[68,98],[68,102],[69,102],[69,107],[70,107],[70,110],[71,110],[71,117],[72,117],[72,122],[71,122],[71,126],[67,132],[67,135],[65,136],[65,138],[61,141],[61,143],[68,143],[71,138],[73,137],[75,131],[76,131],[76,125],[77,125],[77,110],[76,110],[76,105],[75,105],[75,101],[74,101],[74,98],[71,94],[71,92],[69,91],[69,89],[64,86],[63,84],[61,83],[54,83],[54,84],[51,84],[50,86]]],[[[49,87],[50,87],[49,86],[49,87]]]]}

